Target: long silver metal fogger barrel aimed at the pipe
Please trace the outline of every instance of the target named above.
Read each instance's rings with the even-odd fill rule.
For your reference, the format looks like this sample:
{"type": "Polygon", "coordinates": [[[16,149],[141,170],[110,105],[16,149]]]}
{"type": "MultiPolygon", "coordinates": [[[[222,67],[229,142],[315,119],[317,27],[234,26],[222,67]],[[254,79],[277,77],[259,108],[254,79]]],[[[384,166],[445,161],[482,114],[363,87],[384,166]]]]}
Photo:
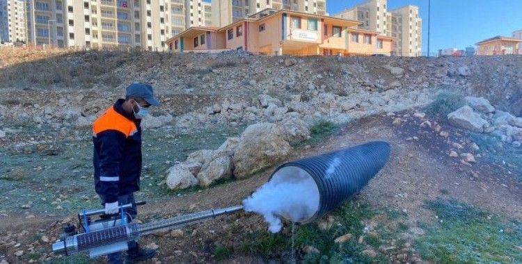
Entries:
{"type": "MultiPolygon", "coordinates": [[[[140,236],[154,233],[166,228],[180,228],[187,224],[199,222],[209,218],[214,218],[219,215],[234,213],[242,210],[243,206],[230,206],[226,208],[212,209],[198,213],[191,213],[187,215],[180,215],[178,217],[169,218],[166,220],[159,220],[155,222],[136,224],[129,223],[119,226],[113,226],[106,229],[91,231],[88,233],[79,233],[74,236],[57,241],[52,245],[54,253],[74,254],[81,251],[101,251],[104,254],[111,252],[111,245],[136,240],[140,236]]],[[[92,252],[91,252],[92,253],[92,252]]],[[[101,254],[91,254],[91,256],[98,256],[101,254]]]]}

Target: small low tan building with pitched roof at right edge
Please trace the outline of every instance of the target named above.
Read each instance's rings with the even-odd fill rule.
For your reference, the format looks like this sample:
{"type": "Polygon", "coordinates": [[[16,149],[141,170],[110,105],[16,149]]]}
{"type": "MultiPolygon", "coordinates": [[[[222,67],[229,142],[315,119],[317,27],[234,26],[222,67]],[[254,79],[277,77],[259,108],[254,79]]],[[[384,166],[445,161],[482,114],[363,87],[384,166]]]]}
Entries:
{"type": "Polygon", "coordinates": [[[507,55],[518,54],[518,44],[522,40],[503,36],[496,36],[477,42],[477,55],[507,55]]]}

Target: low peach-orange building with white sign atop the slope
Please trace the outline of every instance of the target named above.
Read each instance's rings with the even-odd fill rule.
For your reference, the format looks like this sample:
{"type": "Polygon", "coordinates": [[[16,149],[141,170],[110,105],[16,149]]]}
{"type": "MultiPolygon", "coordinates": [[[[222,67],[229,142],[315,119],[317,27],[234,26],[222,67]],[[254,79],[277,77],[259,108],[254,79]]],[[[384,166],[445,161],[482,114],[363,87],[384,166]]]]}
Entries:
{"type": "Polygon", "coordinates": [[[290,10],[263,10],[221,28],[189,28],[167,40],[174,52],[242,49],[267,55],[390,55],[394,38],[361,22],[290,10]]]}

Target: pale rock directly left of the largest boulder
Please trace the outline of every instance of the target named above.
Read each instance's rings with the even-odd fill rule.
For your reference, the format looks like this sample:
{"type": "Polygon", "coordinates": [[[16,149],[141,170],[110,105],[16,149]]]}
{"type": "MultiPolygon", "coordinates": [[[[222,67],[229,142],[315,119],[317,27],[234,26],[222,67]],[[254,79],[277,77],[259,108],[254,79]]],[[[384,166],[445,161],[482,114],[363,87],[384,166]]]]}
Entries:
{"type": "Polygon", "coordinates": [[[215,156],[198,173],[198,183],[203,187],[208,187],[219,179],[230,179],[232,177],[232,154],[223,152],[219,156],[215,156]]]}

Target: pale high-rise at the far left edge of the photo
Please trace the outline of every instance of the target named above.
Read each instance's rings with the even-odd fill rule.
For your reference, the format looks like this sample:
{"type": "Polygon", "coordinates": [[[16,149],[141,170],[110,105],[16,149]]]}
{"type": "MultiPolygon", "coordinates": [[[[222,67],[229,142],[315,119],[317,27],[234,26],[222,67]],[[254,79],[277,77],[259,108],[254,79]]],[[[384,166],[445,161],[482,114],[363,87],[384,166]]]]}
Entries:
{"type": "Polygon", "coordinates": [[[24,0],[0,1],[0,42],[26,42],[24,0]]]}

